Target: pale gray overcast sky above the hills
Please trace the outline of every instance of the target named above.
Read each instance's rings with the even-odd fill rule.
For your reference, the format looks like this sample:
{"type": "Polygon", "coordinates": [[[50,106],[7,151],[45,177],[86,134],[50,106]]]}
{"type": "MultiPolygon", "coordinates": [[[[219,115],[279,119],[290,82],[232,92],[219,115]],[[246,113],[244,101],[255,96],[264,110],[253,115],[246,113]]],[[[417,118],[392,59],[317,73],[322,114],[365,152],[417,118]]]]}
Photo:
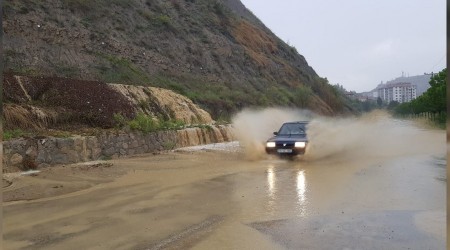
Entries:
{"type": "Polygon", "coordinates": [[[331,84],[381,81],[446,67],[444,0],[241,0],[331,84]]]}

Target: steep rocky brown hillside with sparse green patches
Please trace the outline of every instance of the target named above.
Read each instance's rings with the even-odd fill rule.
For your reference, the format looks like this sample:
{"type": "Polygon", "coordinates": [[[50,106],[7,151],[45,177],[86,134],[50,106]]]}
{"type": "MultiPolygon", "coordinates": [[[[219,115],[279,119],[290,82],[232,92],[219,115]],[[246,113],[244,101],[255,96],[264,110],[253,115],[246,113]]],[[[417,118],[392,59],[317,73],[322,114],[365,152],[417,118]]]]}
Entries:
{"type": "Polygon", "coordinates": [[[249,106],[332,115],[344,100],[239,0],[6,0],[15,75],[163,87],[214,119],[249,106]]]}

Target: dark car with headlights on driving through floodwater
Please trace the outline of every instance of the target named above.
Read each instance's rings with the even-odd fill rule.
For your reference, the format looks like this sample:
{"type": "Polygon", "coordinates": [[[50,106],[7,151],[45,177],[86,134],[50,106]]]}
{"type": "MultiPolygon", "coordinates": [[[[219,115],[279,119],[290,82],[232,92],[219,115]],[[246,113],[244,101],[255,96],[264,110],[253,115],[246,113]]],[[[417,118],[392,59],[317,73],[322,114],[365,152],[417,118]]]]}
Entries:
{"type": "Polygon", "coordinates": [[[284,123],[278,132],[273,132],[275,136],[267,140],[266,152],[280,156],[304,154],[308,144],[307,125],[305,121],[284,123]]]}

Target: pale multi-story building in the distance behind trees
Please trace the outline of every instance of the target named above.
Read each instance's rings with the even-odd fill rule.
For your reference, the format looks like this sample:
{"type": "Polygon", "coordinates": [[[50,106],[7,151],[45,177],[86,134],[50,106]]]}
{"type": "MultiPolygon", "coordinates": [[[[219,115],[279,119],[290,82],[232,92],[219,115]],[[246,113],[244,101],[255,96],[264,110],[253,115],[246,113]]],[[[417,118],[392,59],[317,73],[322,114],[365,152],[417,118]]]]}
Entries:
{"type": "Polygon", "coordinates": [[[385,102],[409,102],[416,99],[417,87],[409,82],[380,84],[377,88],[378,96],[385,102]]]}

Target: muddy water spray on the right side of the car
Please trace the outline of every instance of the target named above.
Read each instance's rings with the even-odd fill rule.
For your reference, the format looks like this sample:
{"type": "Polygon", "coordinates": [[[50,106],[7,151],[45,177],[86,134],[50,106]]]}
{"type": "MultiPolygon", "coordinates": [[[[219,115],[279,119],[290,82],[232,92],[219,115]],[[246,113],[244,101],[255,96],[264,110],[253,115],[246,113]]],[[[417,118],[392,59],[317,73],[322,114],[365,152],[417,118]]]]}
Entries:
{"type": "MultiPolygon", "coordinates": [[[[445,133],[374,111],[357,118],[311,121],[305,160],[356,160],[433,154],[445,150],[445,133]]],[[[444,152],[444,151],[443,151],[444,152]]]]}

